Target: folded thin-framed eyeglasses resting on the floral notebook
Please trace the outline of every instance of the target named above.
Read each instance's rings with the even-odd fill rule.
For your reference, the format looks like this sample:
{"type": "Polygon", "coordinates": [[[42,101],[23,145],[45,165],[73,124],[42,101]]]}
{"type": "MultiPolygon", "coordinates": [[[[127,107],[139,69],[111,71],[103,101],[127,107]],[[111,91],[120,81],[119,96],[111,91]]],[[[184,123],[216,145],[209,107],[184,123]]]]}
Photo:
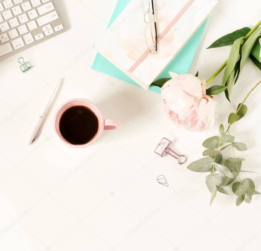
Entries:
{"type": "Polygon", "coordinates": [[[150,53],[157,53],[157,27],[154,15],[154,4],[153,0],[149,0],[149,8],[144,13],[144,36],[146,45],[150,53]]]}

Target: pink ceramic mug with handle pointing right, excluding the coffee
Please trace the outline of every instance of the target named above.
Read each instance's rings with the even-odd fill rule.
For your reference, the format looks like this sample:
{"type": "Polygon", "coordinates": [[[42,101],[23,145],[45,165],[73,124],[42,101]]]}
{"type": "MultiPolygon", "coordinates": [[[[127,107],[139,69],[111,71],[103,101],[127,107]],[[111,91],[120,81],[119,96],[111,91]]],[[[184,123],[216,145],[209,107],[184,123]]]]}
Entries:
{"type": "Polygon", "coordinates": [[[64,143],[66,143],[68,146],[74,147],[74,148],[84,148],[84,147],[91,145],[93,142],[95,142],[100,137],[103,130],[117,129],[120,127],[120,124],[121,123],[118,120],[103,119],[99,109],[93,103],[91,103],[91,101],[89,101],[87,99],[71,99],[68,102],[64,103],[55,115],[56,133],[58,134],[58,136],[64,143]],[[69,143],[66,139],[64,139],[64,137],[62,136],[62,134],[60,132],[60,126],[59,126],[60,119],[61,119],[63,113],[67,109],[69,109],[70,107],[73,107],[73,106],[85,106],[88,109],[90,109],[94,114],[96,114],[96,116],[98,118],[99,126],[98,126],[97,133],[88,143],[83,144],[83,145],[73,145],[73,144],[69,143]]]}

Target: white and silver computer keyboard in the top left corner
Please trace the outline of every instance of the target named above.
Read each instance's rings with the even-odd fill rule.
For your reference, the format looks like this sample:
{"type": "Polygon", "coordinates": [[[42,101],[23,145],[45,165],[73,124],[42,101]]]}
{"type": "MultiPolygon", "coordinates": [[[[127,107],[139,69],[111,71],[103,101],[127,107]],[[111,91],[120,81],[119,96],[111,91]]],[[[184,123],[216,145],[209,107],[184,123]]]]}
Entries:
{"type": "Polygon", "coordinates": [[[0,60],[38,44],[67,26],[55,0],[0,0],[0,60]]]}

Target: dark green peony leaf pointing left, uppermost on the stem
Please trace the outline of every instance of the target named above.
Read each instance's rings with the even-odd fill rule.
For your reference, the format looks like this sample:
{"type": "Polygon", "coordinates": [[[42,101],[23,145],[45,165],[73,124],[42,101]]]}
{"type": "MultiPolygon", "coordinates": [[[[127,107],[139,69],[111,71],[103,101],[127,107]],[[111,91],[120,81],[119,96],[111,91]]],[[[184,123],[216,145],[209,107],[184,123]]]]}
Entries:
{"type": "Polygon", "coordinates": [[[250,30],[251,30],[250,28],[245,27],[240,30],[236,30],[230,34],[227,34],[225,36],[222,36],[220,39],[213,42],[213,44],[210,45],[207,49],[232,45],[236,39],[241,38],[242,36],[246,36],[247,33],[250,32],[250,30]]]}

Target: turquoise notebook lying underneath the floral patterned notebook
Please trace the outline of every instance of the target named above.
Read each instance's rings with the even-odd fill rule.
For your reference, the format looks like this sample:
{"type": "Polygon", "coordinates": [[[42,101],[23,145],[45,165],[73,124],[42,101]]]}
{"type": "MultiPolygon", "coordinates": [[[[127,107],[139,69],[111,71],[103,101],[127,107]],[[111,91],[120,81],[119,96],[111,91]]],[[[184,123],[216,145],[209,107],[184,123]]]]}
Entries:
{"type": "MultiPolygon", "coordinates": [[[[131,2],[131,0],[118,0],[115,10],[111,16],[111,20],[109,22],[109,26],[114,22],[118,15],[122,12],[122,10],[131,2]]],[[[165,68],[165,70],[159,75],[159,78],[168,78],[170,77],[169,71],[173,71],[177,74],[188,73],[189,67],[197,50],[197,46],[199,44],[201,35],[205,28],[207,20],[199,27],[199,29],[195,32],[195,34],[191,37],[191,39],[186,43],[186,45],[181,49],[181,51],[177,54],[177,56],[170,62],[170,64],[165,68]]],[[[109,26],[107,28],[109,28],[109,26]]],[[[92,68],[94,70],[103,72],[110,76],[122,79],[129,83],[138,85],[135,81],[133,81],[130,77],[124,74],[123,71],[118,69],[114,64],[112,64],[109,60],[104,58],[101,54],[97,53],[92,68]]],[[[155,91],[157,93],[161,93],[161,89],[157,86],[152,86],[149,88],[151,91],[155,91]]]]}

